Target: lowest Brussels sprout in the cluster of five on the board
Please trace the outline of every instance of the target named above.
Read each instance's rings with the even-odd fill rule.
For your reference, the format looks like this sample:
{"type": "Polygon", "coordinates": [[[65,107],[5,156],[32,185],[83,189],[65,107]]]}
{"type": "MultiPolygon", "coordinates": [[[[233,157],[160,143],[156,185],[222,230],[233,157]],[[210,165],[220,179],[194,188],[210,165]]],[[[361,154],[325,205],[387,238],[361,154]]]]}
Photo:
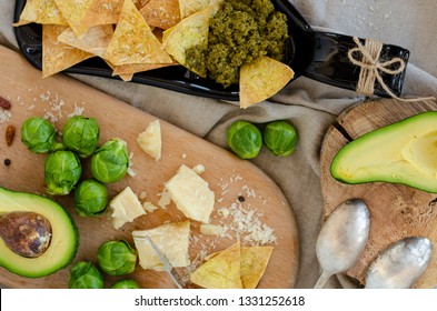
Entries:
{"type": "Polygon", "coordinates": [[[93,179],[80,182],[75,191],[75,208],[81,217],[92,217],[102,213],[108,204],[108,200],[106,185],[93,179]]]}

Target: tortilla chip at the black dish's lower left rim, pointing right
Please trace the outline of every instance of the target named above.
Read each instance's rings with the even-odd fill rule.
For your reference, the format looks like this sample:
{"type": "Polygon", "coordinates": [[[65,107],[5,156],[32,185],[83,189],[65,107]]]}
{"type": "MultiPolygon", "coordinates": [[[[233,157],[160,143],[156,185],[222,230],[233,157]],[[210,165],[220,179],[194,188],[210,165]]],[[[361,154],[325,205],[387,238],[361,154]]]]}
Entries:
{"type": "Polygon", "coordinates": [[[66,26],[42,26],[42,78],[54,74],[93,57],[91,53],[59,42],[58,37],[66,29],[66,26]]]}

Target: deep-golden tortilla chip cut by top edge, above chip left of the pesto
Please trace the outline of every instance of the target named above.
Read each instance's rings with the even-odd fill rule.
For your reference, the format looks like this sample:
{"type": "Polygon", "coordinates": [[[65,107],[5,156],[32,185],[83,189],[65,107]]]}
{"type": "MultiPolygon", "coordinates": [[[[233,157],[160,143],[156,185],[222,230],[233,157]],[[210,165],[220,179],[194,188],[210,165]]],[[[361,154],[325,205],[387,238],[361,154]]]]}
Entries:
{"type": "Polygon", "coordinates": [[[169,29],[180,21],[179,0],[150,0],[140,13],[149,26],[169,29]]]}

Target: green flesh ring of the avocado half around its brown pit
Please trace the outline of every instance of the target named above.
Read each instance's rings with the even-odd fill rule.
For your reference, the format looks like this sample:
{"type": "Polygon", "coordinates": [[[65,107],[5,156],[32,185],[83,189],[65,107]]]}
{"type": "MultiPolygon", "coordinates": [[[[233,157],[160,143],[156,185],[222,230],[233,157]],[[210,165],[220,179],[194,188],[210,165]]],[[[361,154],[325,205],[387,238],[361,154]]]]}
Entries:
{"type": "Polygon", "coordinates": [[[0,217],[9,212],[34,212],[46,217],[52,235],[49,248],[37,258],[14,253],[0,239],[1,267],[19,275],[39,278],[67,267],[73,260],[79,245],[78,230],[60,204],[38,194],[0,188],[0,217]]]}

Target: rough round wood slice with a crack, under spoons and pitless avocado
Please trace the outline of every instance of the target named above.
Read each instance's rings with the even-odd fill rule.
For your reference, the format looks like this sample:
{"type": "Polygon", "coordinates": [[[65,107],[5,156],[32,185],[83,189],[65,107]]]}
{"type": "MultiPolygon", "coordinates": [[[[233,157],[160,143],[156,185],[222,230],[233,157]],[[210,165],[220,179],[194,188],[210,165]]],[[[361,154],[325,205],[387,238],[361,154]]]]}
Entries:
{"type": "MultiPolygon", "coordinates": [[[[362,257],[347,274],[364,283],[368,264],[390,243],[411,235],[421,235],[434,243],[434,255],[417,288],[437,284],[437,194],[407,185],[374,182],[345,184],[330,175],[330,163],[337,151],[350,139],[400,121],[419,112],[437,110],[435,101],[403,102],[393,99],[368,101],[341,113],[326,133],[322,142],[321,190],[325,217],[341,202],[361,198],[370,209],[370,235],[362,257]]],[[[437,160],[437,159],[436,159],[437,160]]]]}

